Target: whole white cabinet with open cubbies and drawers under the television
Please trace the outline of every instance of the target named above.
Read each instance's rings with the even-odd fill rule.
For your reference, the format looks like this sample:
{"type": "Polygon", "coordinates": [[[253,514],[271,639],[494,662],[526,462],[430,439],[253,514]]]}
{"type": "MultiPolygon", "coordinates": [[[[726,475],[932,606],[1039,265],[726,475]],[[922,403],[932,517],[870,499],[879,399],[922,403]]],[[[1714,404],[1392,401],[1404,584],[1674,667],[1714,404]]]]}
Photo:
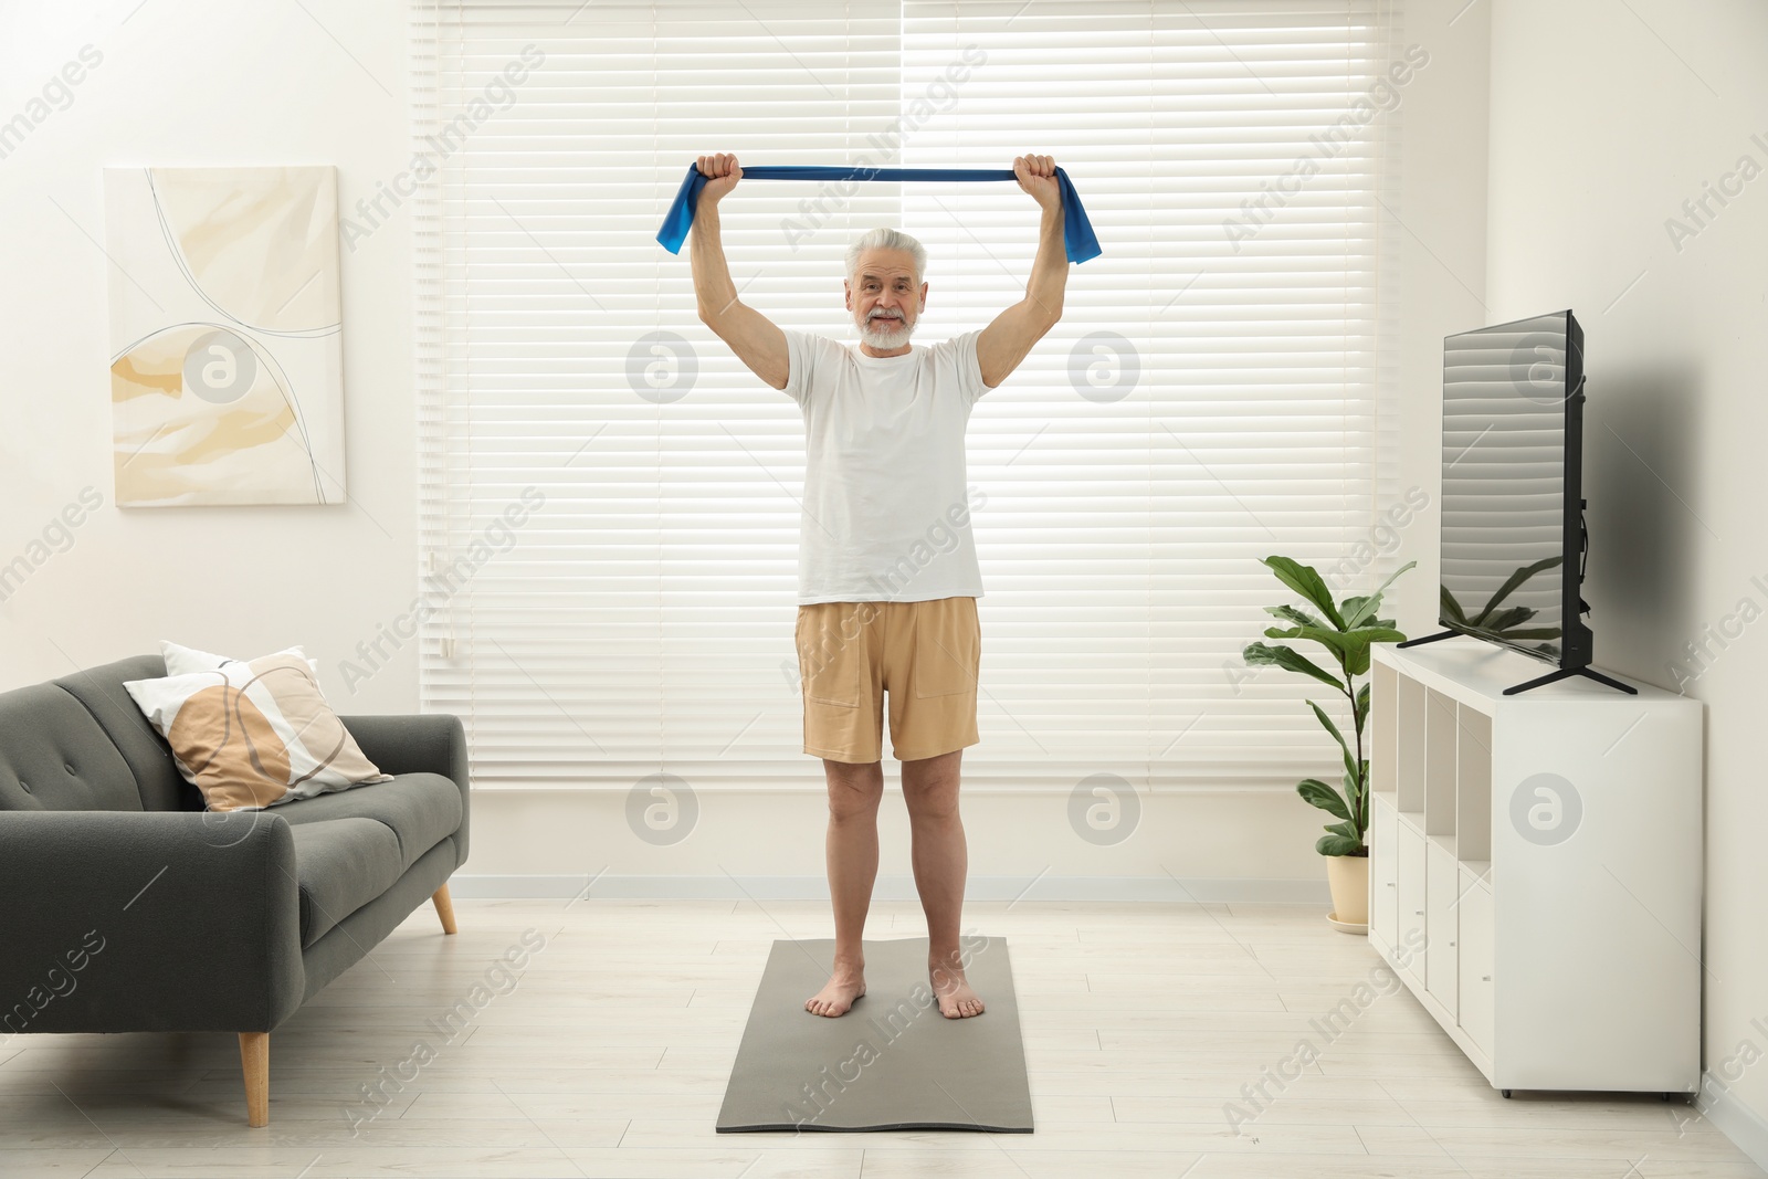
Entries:
{"type": "Polygon", "coordinates": [[[1376,649],[1368,940],[1497,1089],[1694,1092],[1701,704],[1538,673],[1376,649]]]}

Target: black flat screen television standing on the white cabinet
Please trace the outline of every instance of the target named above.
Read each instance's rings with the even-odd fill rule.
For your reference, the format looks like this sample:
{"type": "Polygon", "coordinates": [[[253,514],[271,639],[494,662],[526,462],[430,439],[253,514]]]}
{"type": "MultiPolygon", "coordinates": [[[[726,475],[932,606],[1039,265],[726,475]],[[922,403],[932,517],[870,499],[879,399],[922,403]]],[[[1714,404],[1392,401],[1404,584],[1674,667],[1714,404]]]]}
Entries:
{"type": "Polygon", "coordinates": [[[1591,670],[1584,582],[1584,331],[1570,311],[1443,339],[1437,635],[1469,635],[1621,691],[1591,670]]]}

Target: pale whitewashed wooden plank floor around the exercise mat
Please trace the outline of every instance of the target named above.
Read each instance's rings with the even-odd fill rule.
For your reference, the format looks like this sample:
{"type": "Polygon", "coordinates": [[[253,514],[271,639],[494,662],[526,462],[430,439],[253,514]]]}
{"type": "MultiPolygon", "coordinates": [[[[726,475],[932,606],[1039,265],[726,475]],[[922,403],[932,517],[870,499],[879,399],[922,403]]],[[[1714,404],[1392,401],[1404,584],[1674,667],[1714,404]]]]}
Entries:
{"type": "MultiPolygon", "coordinates": [[[[1406,992],[1328,1041],[1310,1020],[1377,960],[1319,907],[972,903],[965,930],[1010,939],[1036,1133],[803,1137],[713,1121],[771,942],[827,937],[826,905],[456,910],[458,937],[426,905],[276,1031],[265,1130],[246,1126],[233,1036],[0,1041],[0,1175],[1763,1174],[1688,1105],[1501,1099],[1406,992]],[[506,977],[525,930],[545,947],[506,977]],[[465,1029],[438,1031],[463,999],[465,1029]],[[1301,1038],[1317,1064],[1231,1128],[1225,1107],[1254,1114],[1243,1085],[1301,1038]]],[[[868,935],[921,933],[914,905],[873,909],[868,935]]]]}

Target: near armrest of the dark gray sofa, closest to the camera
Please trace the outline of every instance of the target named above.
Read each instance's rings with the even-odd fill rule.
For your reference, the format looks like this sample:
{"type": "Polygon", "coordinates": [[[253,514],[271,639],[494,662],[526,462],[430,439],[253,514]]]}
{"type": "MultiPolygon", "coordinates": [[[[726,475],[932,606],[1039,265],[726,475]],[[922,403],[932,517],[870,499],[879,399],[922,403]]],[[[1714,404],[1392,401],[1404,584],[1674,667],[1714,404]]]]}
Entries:
{"type": "Polygon", "coordinates": [[[288,820],[0,811],[0,1041],[267,1032],[301,1008],[288,820]]]}

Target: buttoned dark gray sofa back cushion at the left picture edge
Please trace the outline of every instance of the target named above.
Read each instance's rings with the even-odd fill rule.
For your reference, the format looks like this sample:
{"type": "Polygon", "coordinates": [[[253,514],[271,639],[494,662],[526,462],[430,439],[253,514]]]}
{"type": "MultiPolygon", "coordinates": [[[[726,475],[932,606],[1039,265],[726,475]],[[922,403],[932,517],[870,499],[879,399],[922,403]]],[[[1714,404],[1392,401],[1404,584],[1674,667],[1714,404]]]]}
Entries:
{"type": "Polygon", "coordinates": [[[30,684],[0,693],[0,810],[138,811],[141,792],[87,705],[30,684]]]}

